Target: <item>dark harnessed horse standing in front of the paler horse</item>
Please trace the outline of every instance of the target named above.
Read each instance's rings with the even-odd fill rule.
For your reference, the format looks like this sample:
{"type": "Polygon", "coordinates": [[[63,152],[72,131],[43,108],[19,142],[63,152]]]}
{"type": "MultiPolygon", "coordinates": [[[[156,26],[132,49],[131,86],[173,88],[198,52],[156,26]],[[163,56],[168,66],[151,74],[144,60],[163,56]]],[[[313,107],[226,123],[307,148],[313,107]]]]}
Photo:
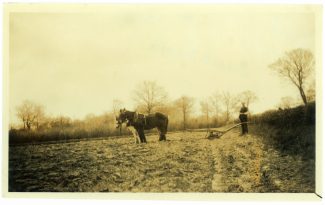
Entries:
{"type": "Polygon", "coordinates": [[[168,117],[160,112],[154,114],[144,115],[137,112],[131,112],[128,110],[120,110],[119,116],[116,117],[117,128],[119,128],[124,122],[128,128],[132,128],[136,132],[133,132],[134,137],[139,136],[141,143],[146,143],[146,136],[144,130],[150,130],[157,128],[159,132],[159,141],[166,140],[166,133],[168,127],[168,117]]]}

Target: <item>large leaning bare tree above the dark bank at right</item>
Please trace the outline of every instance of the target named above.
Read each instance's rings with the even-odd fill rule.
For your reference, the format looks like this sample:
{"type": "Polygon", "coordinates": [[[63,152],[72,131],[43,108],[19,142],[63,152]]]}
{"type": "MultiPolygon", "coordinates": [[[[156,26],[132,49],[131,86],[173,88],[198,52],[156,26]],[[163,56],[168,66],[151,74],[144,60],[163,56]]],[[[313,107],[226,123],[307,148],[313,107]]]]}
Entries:
{"type": "Polygon", "coordinates": [[[314,66],[315,60],[312,52],[298,48],[286,52],[282,58],[279,58],[269,67],[280,76],[290,80],[298,88],[301,99],[307,106],[305,84],[314,70],[314,66]]]}

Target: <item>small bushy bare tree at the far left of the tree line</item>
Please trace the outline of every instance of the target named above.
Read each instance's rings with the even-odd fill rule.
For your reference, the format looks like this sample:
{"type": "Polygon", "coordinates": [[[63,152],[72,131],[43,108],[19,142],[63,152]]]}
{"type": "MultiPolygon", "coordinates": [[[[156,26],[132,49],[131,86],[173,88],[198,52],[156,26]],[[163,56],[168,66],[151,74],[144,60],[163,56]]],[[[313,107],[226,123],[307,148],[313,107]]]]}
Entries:
{"type": "Polygon", "coordinates": [[[40,120],[44,117],[44,108],[41,105],[25,100],[17,107],[17,116],[24,124],[24,129],[30,130],[35,123],[38,128],[40,120]]]}

